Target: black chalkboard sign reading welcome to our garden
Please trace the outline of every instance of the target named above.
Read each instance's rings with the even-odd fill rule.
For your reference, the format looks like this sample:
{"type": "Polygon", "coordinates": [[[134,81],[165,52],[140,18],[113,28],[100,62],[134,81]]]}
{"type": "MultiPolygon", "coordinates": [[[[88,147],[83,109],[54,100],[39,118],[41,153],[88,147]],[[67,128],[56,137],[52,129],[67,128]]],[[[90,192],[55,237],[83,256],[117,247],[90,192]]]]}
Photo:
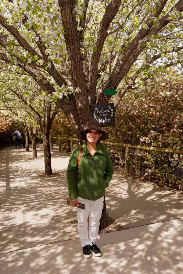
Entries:
{"type": "Polygon", "coordinates": [[[91,105],[92,120],[98,121],[102,127],[114,126],[114,103],[91,105]]]}

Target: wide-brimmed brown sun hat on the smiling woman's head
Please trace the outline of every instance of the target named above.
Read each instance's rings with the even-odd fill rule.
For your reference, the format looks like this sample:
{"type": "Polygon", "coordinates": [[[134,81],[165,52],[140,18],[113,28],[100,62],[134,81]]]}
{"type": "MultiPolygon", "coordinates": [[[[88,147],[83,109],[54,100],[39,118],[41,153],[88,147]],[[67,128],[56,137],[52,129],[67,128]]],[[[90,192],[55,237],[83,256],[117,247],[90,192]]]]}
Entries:
{"type": "Polygon", "coordinates": [[[91,120],[80,129],[79,133],[81,135],[81,139],[86,140],[86,136],[84,135],[84,132],[86,132],[88,129],[96,129],[99,132],[101,132],[102,135],[100,136],[100,140],[105,140],[109,137],[109,132],[103,129],[102,126],[99,124],[99,122],[95,120],[91,120]]]}

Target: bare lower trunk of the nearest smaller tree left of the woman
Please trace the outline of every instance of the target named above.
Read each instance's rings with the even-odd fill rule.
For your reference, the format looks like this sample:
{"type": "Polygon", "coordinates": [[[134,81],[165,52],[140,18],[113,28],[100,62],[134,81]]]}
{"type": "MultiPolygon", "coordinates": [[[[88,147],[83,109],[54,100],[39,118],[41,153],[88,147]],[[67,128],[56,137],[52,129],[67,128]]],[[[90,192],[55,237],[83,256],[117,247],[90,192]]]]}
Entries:
{"type": "Polygon", "coordinates": [[[51,152],[50,152],[50,142],[49,134],[43,135],[43,147],[45,154],[45,175],[52,175],[52,163],[51,163],[51,152]]]}

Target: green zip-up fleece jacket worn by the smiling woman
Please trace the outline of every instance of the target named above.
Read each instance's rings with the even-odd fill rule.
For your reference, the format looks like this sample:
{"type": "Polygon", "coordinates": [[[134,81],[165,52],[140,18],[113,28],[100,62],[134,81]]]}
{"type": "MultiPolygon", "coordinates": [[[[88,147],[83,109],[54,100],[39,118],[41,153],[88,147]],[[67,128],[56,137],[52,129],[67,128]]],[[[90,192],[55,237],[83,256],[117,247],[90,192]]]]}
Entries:
{"type": "Polygon", "coordinates": [[[95,201],[105,194],[105,189],[113,176],[114,168],[108,149],[97,143],[92,156],[84,143],[81,147],[81,159],[75,180],[77,159],[80,147],[73,150],[67,167],[67,184],[71,200],[78,196],[95,201]]]}

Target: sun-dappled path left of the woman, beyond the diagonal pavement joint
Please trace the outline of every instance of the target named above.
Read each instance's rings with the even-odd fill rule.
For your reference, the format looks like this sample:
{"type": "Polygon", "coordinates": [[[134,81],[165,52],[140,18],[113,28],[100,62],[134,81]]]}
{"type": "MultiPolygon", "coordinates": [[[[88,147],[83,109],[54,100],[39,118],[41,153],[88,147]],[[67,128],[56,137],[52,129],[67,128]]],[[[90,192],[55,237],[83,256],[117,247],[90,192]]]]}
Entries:
{"type": "Polygon", "coordinates": [[[57,175],[40,178],[38,175],[44,171],[44,158],[40,156],[43,145],[38,145],[35,160],[24,154],[23,149],[16,152],[12,147],[6,148],[1,159],[6,163],[1,166],[0,175],[1,252],[77,238],[77,229],[71,224],[76,209],[66,205],[69,156],[62,158],[58,153],[60,158],[52,159],[57,175]],[[5,188],[7,177],[9,188],[5,188]]]}

